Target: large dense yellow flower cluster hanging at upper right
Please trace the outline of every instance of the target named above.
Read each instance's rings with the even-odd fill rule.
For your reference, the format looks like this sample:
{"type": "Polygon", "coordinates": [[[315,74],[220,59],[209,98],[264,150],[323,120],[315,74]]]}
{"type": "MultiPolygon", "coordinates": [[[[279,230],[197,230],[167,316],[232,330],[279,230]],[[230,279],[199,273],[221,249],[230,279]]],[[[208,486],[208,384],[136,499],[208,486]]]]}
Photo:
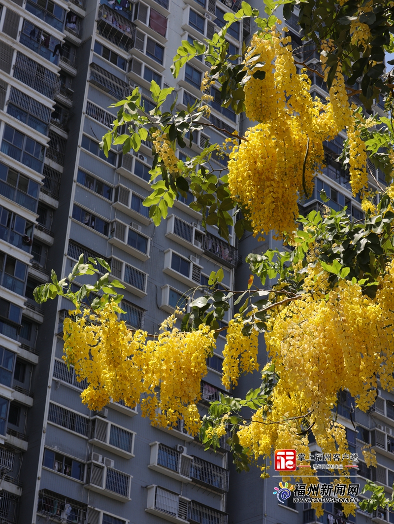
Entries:
{"type": "MultiPolygon", "coordinates": [[[[331,49],[325,42],[323,51],[331,49]]],[[[324,52],[322,59],[324,61],[324,52]]],[[[249,212],[255,236],[274,231],[277,238],[296,231],[300,194],[311,194],[313,178],[324,167],[323,141],[348,129],[354,194],[366,187],[366,152],[355,131],[340,66],[330,102],[312,99],[310,81],[298,73],[290,38],[274,29],[255,34],[245,54],[246,116],[258,124],[230,154],[229,189],[249,212]],[[252,67],[258,61],[257,67],[252,67]],[[263,80],[253,74],[264,71],[263,80]]]]}

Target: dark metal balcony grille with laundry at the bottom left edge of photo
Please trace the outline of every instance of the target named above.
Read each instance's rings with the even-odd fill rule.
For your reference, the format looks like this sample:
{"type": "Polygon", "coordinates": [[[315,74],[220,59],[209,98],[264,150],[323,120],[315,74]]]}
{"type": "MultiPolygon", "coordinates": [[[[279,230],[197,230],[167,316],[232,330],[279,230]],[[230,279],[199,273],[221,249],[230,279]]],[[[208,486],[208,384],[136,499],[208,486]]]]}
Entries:
{"type": "Polygon", "coordinates": [[[65,510],[67,510],[67,517],[64,518],[63,521],[85,524],[87,514],[86,504],[60,495],[59,493],[51,492],[49,489],[41,489],[38,494],[37,511],[40,511],[44,515],[59,516],[64,515],[65,510]],[[71,506],[70,511],[69,506],[71,506]]]}

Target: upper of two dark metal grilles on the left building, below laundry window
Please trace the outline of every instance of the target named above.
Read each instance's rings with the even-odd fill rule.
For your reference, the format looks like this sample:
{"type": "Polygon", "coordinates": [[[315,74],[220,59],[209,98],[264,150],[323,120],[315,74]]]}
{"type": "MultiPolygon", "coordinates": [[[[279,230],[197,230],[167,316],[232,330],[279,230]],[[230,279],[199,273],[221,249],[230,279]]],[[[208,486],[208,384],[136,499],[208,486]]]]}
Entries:
{"type": "Polygon", "coordinates": [[[60,83],[57,75],[19,51],[15,61],[14,77],[48,98],[53,98],[59,93],[60,83]]]}

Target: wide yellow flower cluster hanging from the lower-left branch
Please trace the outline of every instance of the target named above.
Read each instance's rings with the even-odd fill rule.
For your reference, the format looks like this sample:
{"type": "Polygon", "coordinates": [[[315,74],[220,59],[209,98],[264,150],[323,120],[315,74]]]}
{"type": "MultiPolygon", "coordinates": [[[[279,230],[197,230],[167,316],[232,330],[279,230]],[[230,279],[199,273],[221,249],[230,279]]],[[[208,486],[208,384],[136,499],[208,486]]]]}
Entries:
{"type": "Polygon", "coordinates": [[[111,398],[130,408],[140,403],[142,416],[154,425],[167,427],[183,419],[189,433],[199,431],[200,381],[215,347],[209,326],[181,332],[173,315],[148,340],[146,332],[132,333],[119,322],[111,303],[94,315],[76,313],[75,319],[64,320],[63,358],[75,367],[78,379],[87,378],[81,396],[89,409],[99,410],[111,398]]]}

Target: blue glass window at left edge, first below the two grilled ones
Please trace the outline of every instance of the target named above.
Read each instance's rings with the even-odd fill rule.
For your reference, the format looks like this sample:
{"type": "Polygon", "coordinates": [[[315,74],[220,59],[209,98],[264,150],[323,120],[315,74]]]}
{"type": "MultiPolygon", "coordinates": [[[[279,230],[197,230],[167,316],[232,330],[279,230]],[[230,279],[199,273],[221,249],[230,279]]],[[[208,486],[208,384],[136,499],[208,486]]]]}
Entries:
{"type": "Polygon", "coordinates": [[[2,141],[3,153],[41,173],[44,151],[44,146],[28,136],[22,135],[13,127],[5,125],[2,141]]]}

